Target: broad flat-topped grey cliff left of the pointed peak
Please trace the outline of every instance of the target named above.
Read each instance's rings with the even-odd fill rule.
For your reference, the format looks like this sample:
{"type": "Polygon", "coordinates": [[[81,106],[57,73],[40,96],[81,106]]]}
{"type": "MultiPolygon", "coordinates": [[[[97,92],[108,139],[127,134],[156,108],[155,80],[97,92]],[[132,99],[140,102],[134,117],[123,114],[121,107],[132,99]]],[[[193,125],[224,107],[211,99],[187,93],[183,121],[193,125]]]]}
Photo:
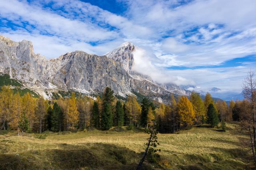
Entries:
{"type": "Polygon", "coordinates": [[[62,55],[53,63],[60,63],[52,78],[53,84],[62,89],[80,92],[103,92],[108,86],[117,94],[131,91],[131,78],[122,64],[106,56],[75,51],[62,55]]]}

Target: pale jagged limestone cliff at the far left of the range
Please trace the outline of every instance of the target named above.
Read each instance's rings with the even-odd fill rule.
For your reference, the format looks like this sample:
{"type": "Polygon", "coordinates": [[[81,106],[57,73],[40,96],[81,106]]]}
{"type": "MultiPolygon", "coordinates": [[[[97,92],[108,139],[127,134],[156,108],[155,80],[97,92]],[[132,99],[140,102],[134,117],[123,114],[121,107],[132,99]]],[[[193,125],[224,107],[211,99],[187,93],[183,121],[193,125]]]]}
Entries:
{"type": "Polygon", "coordinates": [[[0,35],[0,73],[21,80],[28,88],[46,89],[54,67],[44,56],[34,54],[30,41],[14,42],[0,35]]]}

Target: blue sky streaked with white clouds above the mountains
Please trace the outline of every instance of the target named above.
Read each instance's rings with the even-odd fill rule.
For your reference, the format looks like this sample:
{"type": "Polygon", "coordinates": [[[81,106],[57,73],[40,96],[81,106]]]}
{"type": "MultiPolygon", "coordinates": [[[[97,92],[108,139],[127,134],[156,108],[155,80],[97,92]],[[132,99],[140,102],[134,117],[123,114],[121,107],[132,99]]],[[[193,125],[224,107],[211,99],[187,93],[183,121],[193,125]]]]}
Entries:
{"type": "Polygon", "coordinates": [[[136,71],[213,96],[239,94],[256,70],[255,0],[0,2],[0,35],[30,40],[49,59],[76,50],[104,55],[130,41],[139,47],[136,71]]]}

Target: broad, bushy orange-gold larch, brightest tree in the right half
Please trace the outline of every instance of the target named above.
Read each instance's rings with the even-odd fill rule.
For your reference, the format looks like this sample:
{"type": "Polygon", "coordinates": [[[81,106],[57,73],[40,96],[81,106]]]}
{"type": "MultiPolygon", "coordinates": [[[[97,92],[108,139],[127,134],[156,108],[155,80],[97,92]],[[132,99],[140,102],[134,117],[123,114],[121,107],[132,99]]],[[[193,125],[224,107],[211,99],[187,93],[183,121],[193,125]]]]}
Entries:
{"type": "Polygon", "coordinates": [[[192,103],[186,96],[180,98],[180,102],[178,103],[178,115],[181,126],[187,127],[193,124],[195,112],[192,103]]]}

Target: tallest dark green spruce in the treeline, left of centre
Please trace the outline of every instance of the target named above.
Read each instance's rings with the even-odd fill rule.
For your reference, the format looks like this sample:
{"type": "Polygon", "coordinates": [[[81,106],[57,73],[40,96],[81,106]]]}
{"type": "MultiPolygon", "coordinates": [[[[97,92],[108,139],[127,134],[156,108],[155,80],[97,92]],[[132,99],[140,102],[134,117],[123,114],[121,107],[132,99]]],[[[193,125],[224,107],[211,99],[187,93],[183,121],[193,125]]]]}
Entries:
{"type": "Polygon", "coordinates": [[[108,130],[113,125],[113,113],[112,113],[112,102],[114,100],[114,91],[111,88],[106,87],[104,94],[103,94],[103,101],[102,101],[102,117],[101,117],[101,124],[102,129],[108,130]]]}

